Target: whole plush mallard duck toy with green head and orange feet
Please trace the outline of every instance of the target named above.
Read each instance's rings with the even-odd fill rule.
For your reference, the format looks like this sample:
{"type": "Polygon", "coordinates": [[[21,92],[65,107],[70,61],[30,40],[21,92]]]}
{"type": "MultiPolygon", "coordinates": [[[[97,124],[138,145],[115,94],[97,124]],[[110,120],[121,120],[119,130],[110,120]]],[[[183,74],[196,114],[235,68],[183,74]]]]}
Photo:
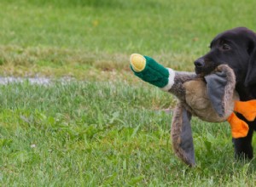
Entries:
{"type": "Polygon", "coordinates": [[[174,71],[141,54],[131,54],[131,70],[143,81],[177,96],[172,117],[172,146],[176,155],[189,166],[195,165],[195,151],[190,126],[191,116],[206,122],[230,123],[233,138],[247,136],[248,125],[236,116],[241,113],[247,121],[256,116],[256,100],[239,101],[235,91],[236,77],[228,65],[218,65],[206,77],[195,73],[174,71]]]}

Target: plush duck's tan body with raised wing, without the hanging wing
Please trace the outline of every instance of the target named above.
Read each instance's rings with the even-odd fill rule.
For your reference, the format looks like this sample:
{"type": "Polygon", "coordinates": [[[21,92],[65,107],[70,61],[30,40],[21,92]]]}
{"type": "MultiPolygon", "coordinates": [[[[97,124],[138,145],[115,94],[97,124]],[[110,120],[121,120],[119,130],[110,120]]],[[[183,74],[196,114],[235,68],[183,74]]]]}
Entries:
{"type": "Polygon", "coordinates": [[[195,73],[175,71],[169,93],[177,96],[183,107],[193,116],[206,122],[224,122],[239,100],[235,90],[236,77],[228,65],[219,65],[207,77],[195,73]]]}

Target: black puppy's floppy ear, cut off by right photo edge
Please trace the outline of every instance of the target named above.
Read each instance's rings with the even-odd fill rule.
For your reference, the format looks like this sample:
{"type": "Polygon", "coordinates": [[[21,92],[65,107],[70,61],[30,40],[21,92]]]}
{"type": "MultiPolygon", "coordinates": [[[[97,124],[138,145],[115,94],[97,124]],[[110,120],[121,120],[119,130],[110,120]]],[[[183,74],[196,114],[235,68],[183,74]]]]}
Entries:
{"type": "Polygon", "coordinates": [[[256,84],[256,42],[252,42],[248,50],[250,59],[247,67],[247,76],[244,82],[246,87],[256,84]]]}

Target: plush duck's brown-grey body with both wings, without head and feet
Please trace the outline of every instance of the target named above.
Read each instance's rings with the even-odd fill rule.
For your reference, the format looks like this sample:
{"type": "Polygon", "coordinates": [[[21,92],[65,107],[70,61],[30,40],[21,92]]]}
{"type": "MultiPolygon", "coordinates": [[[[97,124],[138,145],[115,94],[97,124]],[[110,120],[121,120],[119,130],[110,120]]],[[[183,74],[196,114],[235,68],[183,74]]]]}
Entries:
{"type": "Polygon", "coordinates": [[[195,165],[195,150],[190,126],[191,116],[206,122],[224,122],[234,111],[236,77],[228,65],[220,65],[207,77],[175,71],[169,93],[178,103],[172,116],[172,147],[189,166],[195,165]]]}

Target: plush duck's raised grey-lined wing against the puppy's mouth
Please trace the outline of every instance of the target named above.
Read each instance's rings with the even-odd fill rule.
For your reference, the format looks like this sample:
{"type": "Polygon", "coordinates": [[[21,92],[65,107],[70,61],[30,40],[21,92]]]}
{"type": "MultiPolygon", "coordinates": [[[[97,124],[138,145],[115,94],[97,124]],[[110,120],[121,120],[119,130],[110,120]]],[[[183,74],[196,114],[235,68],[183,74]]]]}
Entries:
{"type": "Polygon", "coordinates": [[[236,86],[236,76],[228,65],[218,65],[216,70],[205,77],[207,94],[218,116],[225,116],[236,86]]]}

